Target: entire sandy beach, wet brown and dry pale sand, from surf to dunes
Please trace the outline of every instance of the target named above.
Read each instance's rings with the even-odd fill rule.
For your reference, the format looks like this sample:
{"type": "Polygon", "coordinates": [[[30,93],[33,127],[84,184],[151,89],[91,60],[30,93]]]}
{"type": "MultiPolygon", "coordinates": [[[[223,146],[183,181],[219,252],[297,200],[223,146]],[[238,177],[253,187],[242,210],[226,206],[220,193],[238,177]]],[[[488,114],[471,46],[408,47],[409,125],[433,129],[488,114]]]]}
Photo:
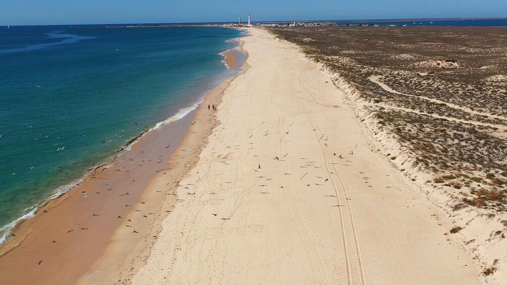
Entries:
{"type": "Polygon", "coordinates": [[[264,29],[248,32],[240,73],[190,116],[16,227],[2,282],[486,282],[333,74],[264,29]]]}

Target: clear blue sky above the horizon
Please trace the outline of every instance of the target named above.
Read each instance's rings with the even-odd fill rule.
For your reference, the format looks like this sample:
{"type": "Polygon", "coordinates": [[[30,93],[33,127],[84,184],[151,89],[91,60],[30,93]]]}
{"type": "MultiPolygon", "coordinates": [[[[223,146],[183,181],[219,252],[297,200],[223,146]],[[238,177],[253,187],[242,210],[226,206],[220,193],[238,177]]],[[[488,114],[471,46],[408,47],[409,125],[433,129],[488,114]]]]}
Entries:
{"type": "Polygon", "coordinates": [[[0,25],[505,17],[507,0],[1,0],[0,25]]]}

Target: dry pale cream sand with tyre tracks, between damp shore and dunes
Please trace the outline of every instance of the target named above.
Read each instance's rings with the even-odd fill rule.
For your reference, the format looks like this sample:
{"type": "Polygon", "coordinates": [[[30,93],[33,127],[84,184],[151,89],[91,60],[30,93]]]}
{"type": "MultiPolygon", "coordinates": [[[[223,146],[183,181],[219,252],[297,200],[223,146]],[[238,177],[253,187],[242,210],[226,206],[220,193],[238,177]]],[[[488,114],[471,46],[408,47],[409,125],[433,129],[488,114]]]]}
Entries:
{"type": "Polygon", "coordinates": [[[249,31],[250,67],[132,282],[480,283],[446,214],[375,151],[330,77],[249,31]]]}

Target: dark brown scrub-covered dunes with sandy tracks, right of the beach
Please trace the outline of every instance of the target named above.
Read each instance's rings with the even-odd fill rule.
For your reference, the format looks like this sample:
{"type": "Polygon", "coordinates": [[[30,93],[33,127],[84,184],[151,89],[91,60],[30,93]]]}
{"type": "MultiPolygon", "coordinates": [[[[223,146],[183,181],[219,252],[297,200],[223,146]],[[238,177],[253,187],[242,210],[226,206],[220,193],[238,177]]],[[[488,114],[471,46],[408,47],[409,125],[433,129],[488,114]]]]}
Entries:
{"type": "Polygon", "coordinates": [[[428,183],[461,199],[456,209],[507,210],[506,27],[271,31],[359,91],[414,166],[434,174],[428,183]]]}

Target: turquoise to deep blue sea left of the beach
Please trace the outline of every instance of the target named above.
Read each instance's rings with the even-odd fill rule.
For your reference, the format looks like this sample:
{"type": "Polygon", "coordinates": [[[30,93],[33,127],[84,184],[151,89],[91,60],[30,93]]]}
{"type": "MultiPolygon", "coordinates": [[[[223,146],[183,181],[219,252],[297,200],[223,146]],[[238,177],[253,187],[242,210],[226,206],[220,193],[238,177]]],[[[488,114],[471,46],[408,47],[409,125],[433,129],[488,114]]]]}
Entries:
{"type": "Polygon", "coordinates": [[[224,28],[0,28],[0,241],[13,222],[236,71],[224,28]]]}

